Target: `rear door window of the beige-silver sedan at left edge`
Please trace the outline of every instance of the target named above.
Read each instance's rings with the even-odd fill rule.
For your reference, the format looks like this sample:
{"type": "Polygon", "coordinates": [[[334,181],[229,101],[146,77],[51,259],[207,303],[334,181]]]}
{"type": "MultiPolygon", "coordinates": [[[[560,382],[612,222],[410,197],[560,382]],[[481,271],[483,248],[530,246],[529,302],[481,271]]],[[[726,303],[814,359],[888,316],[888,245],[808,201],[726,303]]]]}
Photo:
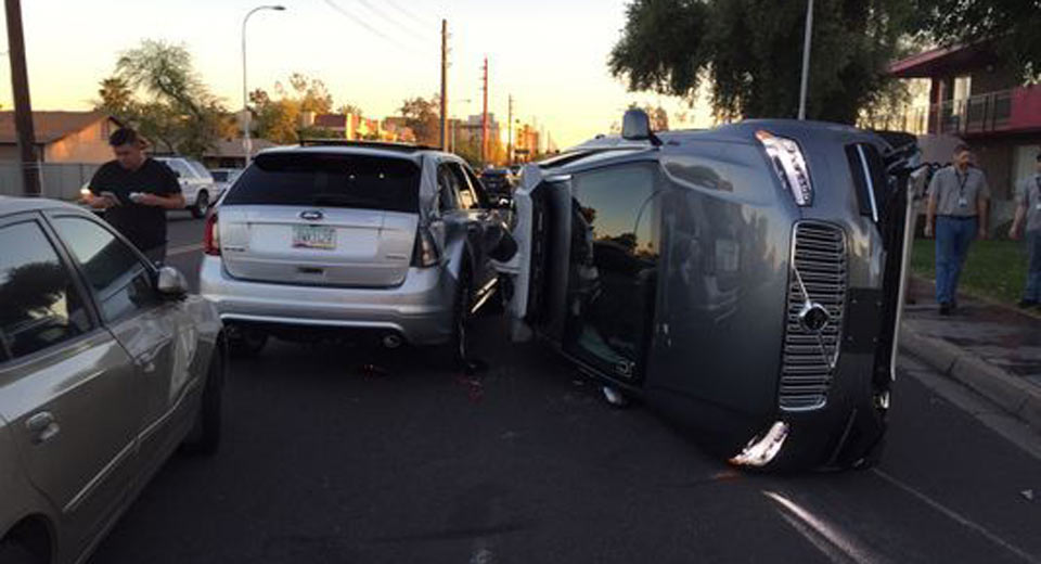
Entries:
{"type": "Polygon", "coordinates": [[[0,228],[0,362],[91,330],[79,291],[36,221],[0,228]]]}

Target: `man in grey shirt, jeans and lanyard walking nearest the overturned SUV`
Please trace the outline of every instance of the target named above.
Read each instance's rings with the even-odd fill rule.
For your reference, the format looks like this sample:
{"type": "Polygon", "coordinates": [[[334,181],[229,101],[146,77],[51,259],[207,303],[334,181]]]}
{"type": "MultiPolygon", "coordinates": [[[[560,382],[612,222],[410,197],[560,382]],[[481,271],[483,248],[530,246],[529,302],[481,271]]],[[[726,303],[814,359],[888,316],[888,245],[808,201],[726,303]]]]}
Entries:
{"type": "Polygon", "coordinates": [[[990,188],[972,162],[968,145],[958,145],[953,163],[937,170],[929,182],[925,236],[936,233],[936,302],[941,316],[958,308],[958,282],[969,243],[977,236],[987,239],[990,188]]]}

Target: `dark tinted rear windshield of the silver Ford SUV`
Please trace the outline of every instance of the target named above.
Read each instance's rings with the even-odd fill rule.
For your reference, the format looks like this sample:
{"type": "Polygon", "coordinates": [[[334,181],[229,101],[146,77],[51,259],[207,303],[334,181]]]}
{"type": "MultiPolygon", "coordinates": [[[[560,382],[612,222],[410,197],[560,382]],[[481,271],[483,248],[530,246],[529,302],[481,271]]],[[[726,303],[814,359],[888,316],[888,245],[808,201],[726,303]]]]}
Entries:
{"type": "Polygon", "coordinates": [[[321,153],[259,155],[222,205],[324,206],[415,213],[420,167],[403,158],[321,153]]]}

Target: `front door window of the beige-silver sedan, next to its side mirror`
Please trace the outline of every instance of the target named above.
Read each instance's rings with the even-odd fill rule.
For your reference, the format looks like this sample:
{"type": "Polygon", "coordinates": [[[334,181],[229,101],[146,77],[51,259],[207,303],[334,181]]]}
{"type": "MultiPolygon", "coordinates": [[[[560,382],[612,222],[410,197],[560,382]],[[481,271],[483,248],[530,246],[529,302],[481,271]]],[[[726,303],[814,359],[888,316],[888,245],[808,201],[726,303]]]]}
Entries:
{"type": "Polygon", "coordinates": [[[62,217],[53,223],[82,268],[106,322],[132,316],[160,302],[149,268],[111,231],[79,217],[62,217]]]}

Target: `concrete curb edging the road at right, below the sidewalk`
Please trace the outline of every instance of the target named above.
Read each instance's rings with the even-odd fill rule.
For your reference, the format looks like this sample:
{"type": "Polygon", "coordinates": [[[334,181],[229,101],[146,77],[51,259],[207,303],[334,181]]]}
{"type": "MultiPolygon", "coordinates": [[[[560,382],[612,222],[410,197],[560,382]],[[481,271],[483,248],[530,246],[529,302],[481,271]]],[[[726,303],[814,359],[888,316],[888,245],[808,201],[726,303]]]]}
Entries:
{"type": "Polygon", "coordinates": [[[900,348],[964,384],[1041,433],[1041,389],[946,341],[900,328],[900,348]]]}

